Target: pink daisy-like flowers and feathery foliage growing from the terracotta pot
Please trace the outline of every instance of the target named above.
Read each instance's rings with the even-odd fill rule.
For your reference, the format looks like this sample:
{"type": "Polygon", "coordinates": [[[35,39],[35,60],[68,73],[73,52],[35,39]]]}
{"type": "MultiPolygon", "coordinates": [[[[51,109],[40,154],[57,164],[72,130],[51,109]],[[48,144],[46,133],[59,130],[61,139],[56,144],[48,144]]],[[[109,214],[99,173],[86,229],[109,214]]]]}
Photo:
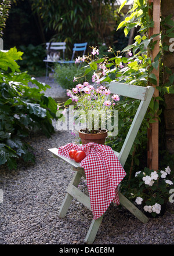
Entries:
{"type": "MultiPolygon", "coordinates": [[[[115,106],[115,102],[119,100],[118,95],[113,95],[111,100],[106,100],[106,96],[110,95],[111,91],[105,86],[94,88],[89,82],[77,84],[73,90],[67,90],[67,95],[70,99],[64,103],[64,106],[75,102],[74,112],[75,122],[81,122],[81,128],[85,128],[86,132],[95,134],[102,129],[105,129],[106,121],[109,122],[112,116],[111,110],[115,106]],[[95,115],[95,120],[90,120],[91,111],[95,115]],[[110,113],[109,113],[110,112],[110,113]],[[88,117],[88,118],[87,118],[88,117]],[[88,121],[87,121],[88,119],[88,121]]],[[[65,109],[66,110],[66,109],[65,109]]],[[[70,107],[68,109],[70,110],[70,107]]]]}

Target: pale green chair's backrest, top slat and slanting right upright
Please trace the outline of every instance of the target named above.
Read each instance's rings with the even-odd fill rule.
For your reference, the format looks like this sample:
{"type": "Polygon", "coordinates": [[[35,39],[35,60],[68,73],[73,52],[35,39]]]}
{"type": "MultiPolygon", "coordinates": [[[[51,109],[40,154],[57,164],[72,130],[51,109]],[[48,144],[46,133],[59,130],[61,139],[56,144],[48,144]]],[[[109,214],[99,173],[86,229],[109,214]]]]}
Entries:
{"type": "Polygon", "coordinates": [[[129,153],[131,152],[133,142],[139,131],[140,125],[142,124],[143,118],[146,114],[148,105],[151,101],[151,98],[153,97],[154,87],[122,84],[113,81],[110,83],[109,89],[111,93],[117,94],[119,96],[127,96],[129,98],[140,100],[139,107],[136,111],[131,127],[129,128],[128,134],[126,135],[126,139],[122,146],[121,152],[119,152],[118,156],[120,163],[122,164],[122,166],[124,166],[129,156],[129,153]]]}

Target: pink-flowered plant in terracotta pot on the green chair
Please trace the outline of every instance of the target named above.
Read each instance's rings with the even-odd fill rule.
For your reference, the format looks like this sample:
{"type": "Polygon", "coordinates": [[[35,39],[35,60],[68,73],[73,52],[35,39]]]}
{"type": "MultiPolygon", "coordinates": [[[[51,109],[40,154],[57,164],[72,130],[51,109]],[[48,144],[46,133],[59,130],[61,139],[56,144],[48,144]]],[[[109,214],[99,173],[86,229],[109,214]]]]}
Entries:
{"type": "Polygon", "coordinates": [[[89,82],[77,84],[72,90],[67,90],[70,99],[65,105],[75,103],[75,122],[81,122],[82,128],[78,134],[82,144],[96,142],[104,144],[107,137],[106,120],[112,116],[115,102],[119,100],[118,95],[107,98],[111,91],[106,86],[93,86],[89,82]],[[93,118],[93,116],[94,118],[93,118]]]}

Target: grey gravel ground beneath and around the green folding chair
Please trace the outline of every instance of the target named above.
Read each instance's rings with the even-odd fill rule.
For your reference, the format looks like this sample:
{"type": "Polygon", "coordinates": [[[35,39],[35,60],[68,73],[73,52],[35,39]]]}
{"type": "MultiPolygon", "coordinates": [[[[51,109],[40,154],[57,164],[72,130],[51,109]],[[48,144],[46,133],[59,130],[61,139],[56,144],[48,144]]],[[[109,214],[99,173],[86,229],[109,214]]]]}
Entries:
{"type": "MultiPolygon", "coordinates": [[[[48,152],[72,141],[69,131],[56,131],[50,139],[35,134],[28,138],[35,148],[35,164],[20,162],[11,171],[0,165],[0,244],[85,244],[92,213],[73,199],[66,217],[59,218],[73,171],[48,152]]],[[[79,188],[86,193],[85,179],[79,188]]],[[[173,204],[168,203],[163,217],[143,224],[111,204],[93,244],[173,244],[173,213],[173,204]]]]}

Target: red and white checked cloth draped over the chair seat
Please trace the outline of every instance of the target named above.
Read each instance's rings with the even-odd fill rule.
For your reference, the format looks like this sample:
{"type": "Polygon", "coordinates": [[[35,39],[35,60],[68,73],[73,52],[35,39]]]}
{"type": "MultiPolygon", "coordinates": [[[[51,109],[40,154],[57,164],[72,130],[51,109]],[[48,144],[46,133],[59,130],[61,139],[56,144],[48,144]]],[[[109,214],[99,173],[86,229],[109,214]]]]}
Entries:
{"type": "Polygon", "coordinates": [[[93,218],[97,219],[104,214],[112,201],[119,205],[117,186],[126,172],[110,146],[93,142],[82,146],[68,143],[59,147],[58,153],[70,158],[71,149],[86,153],[86,157],[79,164],[85,171],[90,206],[93,218]]]}

